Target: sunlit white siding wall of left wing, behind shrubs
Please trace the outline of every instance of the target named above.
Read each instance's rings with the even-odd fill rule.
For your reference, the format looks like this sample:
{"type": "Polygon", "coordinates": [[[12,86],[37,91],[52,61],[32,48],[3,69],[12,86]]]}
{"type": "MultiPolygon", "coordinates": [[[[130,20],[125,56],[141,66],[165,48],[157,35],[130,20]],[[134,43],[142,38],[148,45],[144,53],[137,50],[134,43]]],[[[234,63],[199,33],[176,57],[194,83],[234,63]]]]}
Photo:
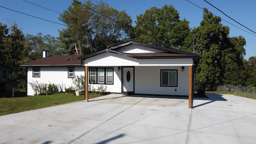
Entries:
{"type": "MultiPolygon", "coordinates": [[[[72,67],[72,66],[70,66],[72,67]]],[[[74,74],[84,76],[84,66],[74,67],[74,74]]],[[[65,88],[74,86],[72,83],[72,78],[68,78],[68,67],[40,67],[40,77],[33,77],[32,67],[28,67],[28,96],[33,96],[34,91],[30,86],[29,82],[36,82],[40,84],[56,84],[60,85],[65,91],[65,88]]]]}

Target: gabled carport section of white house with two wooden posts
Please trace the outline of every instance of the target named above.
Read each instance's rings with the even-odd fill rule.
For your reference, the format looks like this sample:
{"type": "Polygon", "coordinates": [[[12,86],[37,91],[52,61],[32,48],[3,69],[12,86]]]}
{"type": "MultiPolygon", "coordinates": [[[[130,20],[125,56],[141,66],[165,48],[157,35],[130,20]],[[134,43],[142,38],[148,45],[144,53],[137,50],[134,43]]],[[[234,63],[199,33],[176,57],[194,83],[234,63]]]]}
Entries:
{"type": "Polygon", "coordinates": [[[85,60],[86,96],[103,84],[107,92],[189,96],[192,106],[198,54],[130,41],[78,59],[85,60]]]}

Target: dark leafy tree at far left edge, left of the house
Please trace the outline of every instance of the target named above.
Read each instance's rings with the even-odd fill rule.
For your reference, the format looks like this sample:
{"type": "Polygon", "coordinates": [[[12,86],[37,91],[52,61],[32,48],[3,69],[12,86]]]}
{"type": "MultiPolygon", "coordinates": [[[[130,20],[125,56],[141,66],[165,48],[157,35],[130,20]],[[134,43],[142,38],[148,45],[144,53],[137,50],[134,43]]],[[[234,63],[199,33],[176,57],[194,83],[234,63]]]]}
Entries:
{"type": "Polygon", "coordinates": [[[10,30],[7,25],[0,23],[0,61],[14,67],[11,74],[11,80],[15,88],[24,88],[26,80],[26,71],[20,67],[20,64],[28,62],[29,48],[26,45],[24,34],[14,23],[10,30]]]}

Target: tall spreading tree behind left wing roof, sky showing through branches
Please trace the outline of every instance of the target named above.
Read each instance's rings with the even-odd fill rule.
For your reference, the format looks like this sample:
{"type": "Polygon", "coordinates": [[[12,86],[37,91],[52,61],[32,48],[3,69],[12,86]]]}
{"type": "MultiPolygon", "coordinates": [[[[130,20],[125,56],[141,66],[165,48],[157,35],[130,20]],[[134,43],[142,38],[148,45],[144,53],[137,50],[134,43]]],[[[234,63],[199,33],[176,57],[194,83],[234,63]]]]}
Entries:
{"type": "Polygon", "coordinates": [[[68,27],[60,31],[60,43],[66,51],[73,50],[74,44],[88,54],[109,48],[128,39],[132,20],[125,11],[111,8],[104,2],[84,4],[73,2],[68,10],[60,14],[59,20],[68,27]]]}

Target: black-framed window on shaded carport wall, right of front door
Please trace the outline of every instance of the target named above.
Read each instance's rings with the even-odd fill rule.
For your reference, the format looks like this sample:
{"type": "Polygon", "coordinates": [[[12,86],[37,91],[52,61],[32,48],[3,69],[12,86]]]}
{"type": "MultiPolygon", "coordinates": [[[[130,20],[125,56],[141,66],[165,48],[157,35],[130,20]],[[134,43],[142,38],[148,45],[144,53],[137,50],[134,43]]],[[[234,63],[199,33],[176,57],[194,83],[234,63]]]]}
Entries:
{"type": "Polygon", "coordinates": [[[178,70],[161,70],[161,86],[178,86],[178,70]]]}

